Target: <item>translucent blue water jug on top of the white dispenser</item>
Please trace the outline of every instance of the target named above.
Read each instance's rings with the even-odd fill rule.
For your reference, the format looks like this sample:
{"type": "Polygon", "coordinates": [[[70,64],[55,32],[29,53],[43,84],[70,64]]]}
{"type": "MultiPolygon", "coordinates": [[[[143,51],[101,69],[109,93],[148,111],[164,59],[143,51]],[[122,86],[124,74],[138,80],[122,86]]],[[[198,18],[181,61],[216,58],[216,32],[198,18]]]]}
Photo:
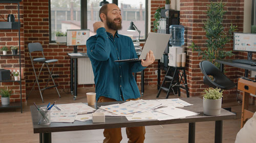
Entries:
{"type": "Polygon", "coordinates": [[[184,26],[170,25],[169,30],[170,30],[169,44],[172,46],[184,45],[184,26]]]}

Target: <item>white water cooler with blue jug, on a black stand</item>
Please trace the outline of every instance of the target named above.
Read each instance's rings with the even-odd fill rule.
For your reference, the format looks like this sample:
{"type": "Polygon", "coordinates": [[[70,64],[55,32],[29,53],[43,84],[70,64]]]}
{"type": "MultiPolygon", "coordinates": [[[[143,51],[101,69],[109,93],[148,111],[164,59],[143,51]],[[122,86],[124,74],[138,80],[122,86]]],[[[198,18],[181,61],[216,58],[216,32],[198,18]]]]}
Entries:
{"type": "MultiPolygon", "coordinates": [[[[183,25],[170,25],[169,26],[170,40],[169,40],[169,63],[168,66],[177,67],[177,62],[181,62],[178,58],[178,54],[184,53],[184,26],[183,25]]],[[[179,57],[180,58],[180,57],[179,57]]]]}

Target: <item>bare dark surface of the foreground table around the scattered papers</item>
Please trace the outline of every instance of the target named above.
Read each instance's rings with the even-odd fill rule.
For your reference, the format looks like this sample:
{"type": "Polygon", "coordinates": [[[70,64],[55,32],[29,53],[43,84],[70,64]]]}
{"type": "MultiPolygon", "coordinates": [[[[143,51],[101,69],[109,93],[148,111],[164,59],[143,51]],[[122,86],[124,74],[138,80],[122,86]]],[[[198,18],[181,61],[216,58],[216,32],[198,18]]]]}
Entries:
{"type": "MultiPolygon", "coordinates": [[[[77,131],[77,130],[93,130],[104,128],[118,128],[118,127],[136,127],[136,126],[151,126],[151,125],[164,125],[164,124],[178,124],[178,123],[194,123],[205,121],[220,121],[228,119],[236,119],[236,115],[225,109],[221,109],[219,116],[207,116],[203,114],[203,100],[201,98],[180,98],[193,106],[186,106],[182,109],[190,110],[199,113],[196,116],[190,116],[183,119],[172,120],[150,120],[150,121],[128,121],[125,117],[105,117],[104,123],[92,123],[92,120],[86,122],[75,121],[74,123],[51,123],[50,125],[38,125],[38,115],[35,106],[30,106],[33,130],[34,133],[47,133],[47,132],[61,132],[61,131],[77,131]]],[[[101,105],[116,104],[122,102],[104,102],[97,103],[95,107],[101,105]]]]}

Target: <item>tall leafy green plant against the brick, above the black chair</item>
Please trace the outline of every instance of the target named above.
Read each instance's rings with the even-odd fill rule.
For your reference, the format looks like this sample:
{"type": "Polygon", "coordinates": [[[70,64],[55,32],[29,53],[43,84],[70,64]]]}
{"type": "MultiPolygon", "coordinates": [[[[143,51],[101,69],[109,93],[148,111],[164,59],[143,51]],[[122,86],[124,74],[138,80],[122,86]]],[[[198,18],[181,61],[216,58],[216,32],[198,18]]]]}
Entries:
{"type": "Polygon", "coordinates": [[[222,24],[225,4],[221,2],[210,3],[206,12],[208,19],[204,22],[204,30],[206,32],[206,49],[202,49],[194,42],[189,46],[195,51],[199,51],[204,60],[208,60],[215,64],[217,67],[220,65],[215,60],[224,59],[226,56],[232,56],[232,51],[225,51],[225,44],[232,40],[232,34],[237,30],[237,26],[230,25],[228,32],[224,31],[222,24]]]}

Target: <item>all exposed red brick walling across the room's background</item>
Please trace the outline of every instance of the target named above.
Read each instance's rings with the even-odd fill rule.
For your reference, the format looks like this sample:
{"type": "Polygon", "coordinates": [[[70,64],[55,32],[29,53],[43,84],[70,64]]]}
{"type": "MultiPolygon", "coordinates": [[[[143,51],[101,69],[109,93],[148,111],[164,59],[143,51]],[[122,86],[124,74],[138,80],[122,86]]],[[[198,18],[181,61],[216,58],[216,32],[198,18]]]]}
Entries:
{"type": "MultiPolygon", "coordinates": [[[[186,58],[186,74],[188,79],[188,87],[190,96],[199,96],[200,93],[203,91],[206,86],[202,83],[202,73],[199,69],[199,62],[201,61],[201,57],[198,57],[198,53],[192,52],[187,47],[194,41],[197,44],[200,44],[202,47],[204,46],[205,42],[205,33],[203,31],[203,23],[202,20],[206,19],[206,14],[203,11],[207,10],[206,4],[209,1],[206,0],[181,0],[180,1],[180,22],[182,25],[185,26],[185,50],[187,52],[186,58]]],[[[239,31],[242,32],[243,26],[243,3],[244,1],[239,0],[226,0],[223,1],[227,3],[225,9],[227,10],[224,25],[228,26],[230,22],[234,25],[239,26],[239,31]]],[[[28,43],[30,42],[40,42],[44,47],[44,52],[46,58],[51,59],[58,59],[58,63],[55,65],[53,70],[54,74],[59,74],[59,78],[56,79],[56,82],[61,86],[63,89],[70,88],[70,59],[68,58],[67,53],[73,51],[73,47],[67,47],[63,44],[49,44],[49,6],[48,0],[24,0],[21,3],[21,21],[22,21],[22,28],[21,28],[21,35],[22,35],[22,63],[23,67],[25,67],[25,79],[23,80],[23,88],[26,87],[26,90],[30,90],[33,85],[33,80],[35,79],[30,56],[28,53],[28,43]],[[23,18],[24,17],[24,18],[23,18]],[[23,21],[24,20],[24,21],[23,21]],[[25,49],[25,50],[24,50],[25,49]],[[25,64],[25,65],[24,65],[25,64]]],[[[158,7],[164,7],[165,1],[151,1],[151,29],[153,28],[153,21],[155,11],[158,7]]],[[[0,13],[7,18],[7,15],[10,11],[15,11],[15,6],[13,7],[6,7],[4,5],[0,5],[0,13]]],[[[0,46],[4,45],[17,45],[17,35],[15,34],[16,30],[1,30],[0,33],[0,46]],[[16,41],[16,43],[15,43],[16,41]]],[[[227,44],[227,50],[232,49],[232,43],[230,42],[227,44]]],[[[79,51],[86,51],[86,47],[78,47],[79,51]]],[[[243,58],[247,56],[246,52],[234,52],[236,53],[236,58],[243,58]]],[[[33,56],[39,57],[41,56],[40,53],[34,53],[33,56]]],[[[253,55],[255,57],[256,55],[253,55]]],[[[11,59],[6,59],[1,57],[0,64],[3,68],[4,66],[17,66],[17,61],[15,58],[11,57],[11,59]],[[12,60],[11,60],[12,59],[12,60]],[[11,60],[11,61],[7,61],[11,60]],[[9,64],[9,62],[15,62],[14,64],[9,64]],[[8,64],[7,64],[8,63],[8,64]]],[[[41,67],[40,64],[35,64],[37,70],[41,67]]],[[[157,62],[149,66],[145,69],[145,85],[156,85],[157,84],[157,62]]],[[[237,69],[233,67],[226,66],[226,75],[231,78],[234,82],[237,82],[237,77],[243,74],[242,69],[237,69]]],[[[161,81],[163,80],[165,75],[164,71],[161,71],[161,81]]],[[[42,75],[40,76],[39,80],[42,84],[46,84],[46,80],[48,78],[48,73],[46,69],[44,69],[42,75]]],[[[137,81],[138,85],[140,85],[140,74],[137,74],[137,81]]],[[[11,83],[2,83],[3,84],[11,84],[11,83]]],[[[52,83],[51,83],[52,84],[52,83]]],[[[16,87],[13,83],[12,87],[16,87]]],[[[84,87],[94,87],[94,85],[78,85],[78,88],[84,87]]],[[[61,90],[59,88],[59,90],[61,90]]],[[[18,92],[15,91],[15,92],[18,92]]],[[[25,97],[25,89],[23,89],[25,97]]],[[[183,91],[184,92],[184,91],[183,91]]],[[[226,93],[236,93],[237,90],[230,90],[226,91],[226,93]]],[[[28,92],[27,92],[28,93],[28,92]]],[[[14,95],[13,95],[14,97],[14,95]]],[[[19,98],[13,98],[13,100],[18,100],[19,98]]],[[[25,100],[25,98],[24,98],[25,100]]]]}

